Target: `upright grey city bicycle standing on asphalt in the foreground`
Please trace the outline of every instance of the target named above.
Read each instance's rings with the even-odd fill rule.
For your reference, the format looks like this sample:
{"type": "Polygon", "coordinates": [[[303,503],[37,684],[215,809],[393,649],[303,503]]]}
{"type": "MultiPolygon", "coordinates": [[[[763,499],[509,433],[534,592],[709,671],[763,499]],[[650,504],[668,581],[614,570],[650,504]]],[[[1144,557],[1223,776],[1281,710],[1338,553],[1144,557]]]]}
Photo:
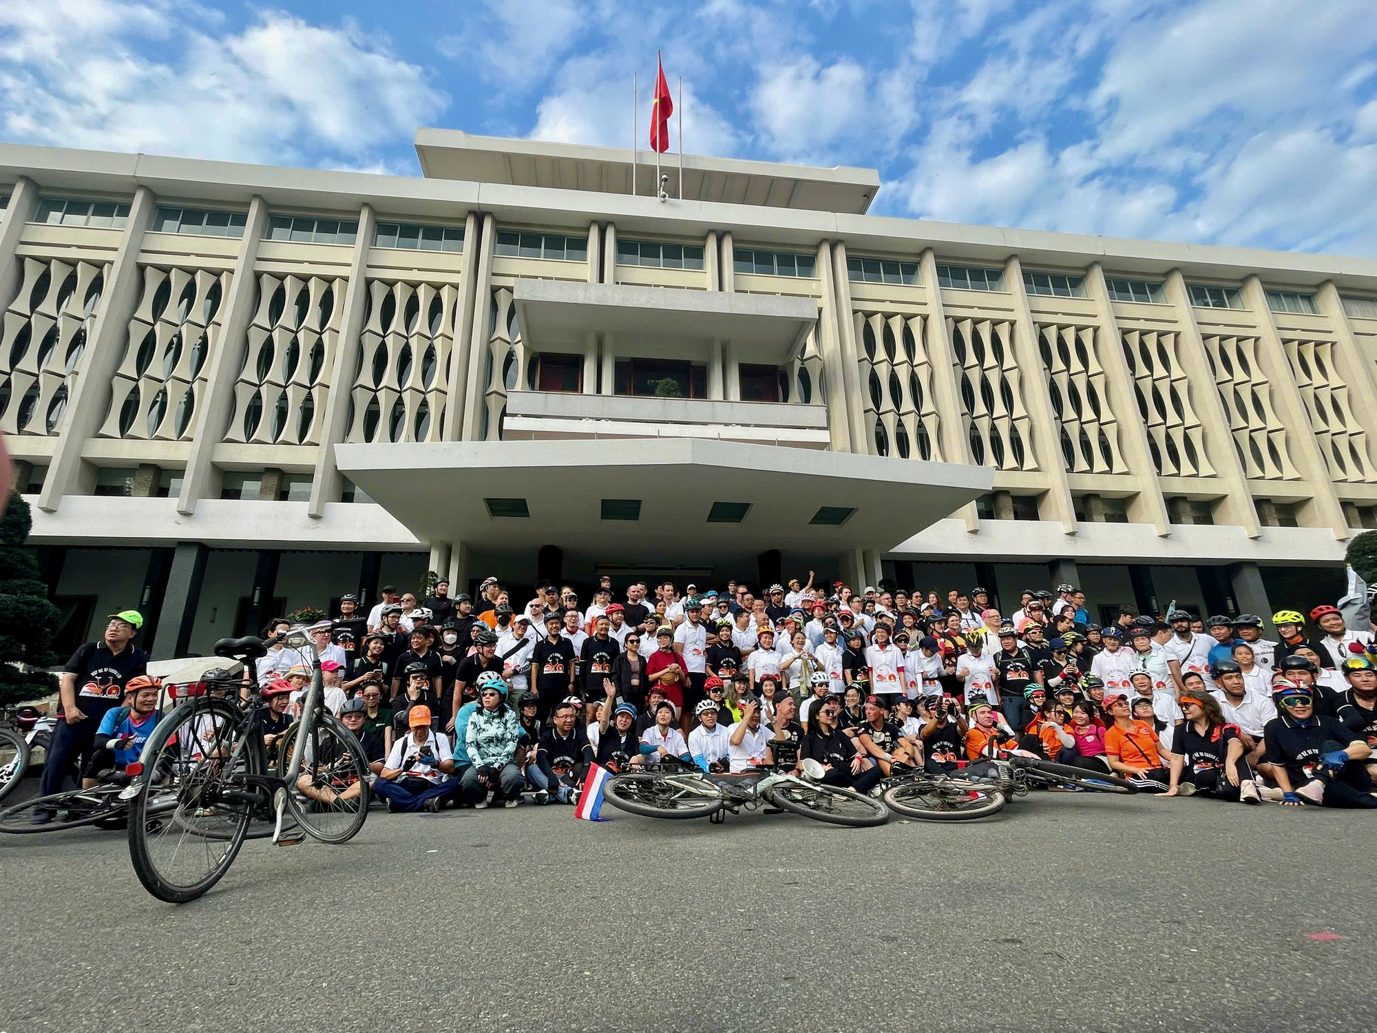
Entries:
{"type": "Polygon", "coordinates": [[[253,821],[273,828],[273,843],[304,836],[344,843],[364,826],[369,769],[358,740],[322,707],[321,665],[302,629],[285,646],[313,668],[302,718],[275,744],[275,763],[259,730],[253,660],[262,639],[220,639],[215,654],[244,662],[248,680],[218,678],[183,686],[186,701],[149,737],[129,802],[129,858],[154,897],[185,904],[215,886],[234,864],[253,821]],[[295,820],[295,828],[291,821],[295,820]]]}

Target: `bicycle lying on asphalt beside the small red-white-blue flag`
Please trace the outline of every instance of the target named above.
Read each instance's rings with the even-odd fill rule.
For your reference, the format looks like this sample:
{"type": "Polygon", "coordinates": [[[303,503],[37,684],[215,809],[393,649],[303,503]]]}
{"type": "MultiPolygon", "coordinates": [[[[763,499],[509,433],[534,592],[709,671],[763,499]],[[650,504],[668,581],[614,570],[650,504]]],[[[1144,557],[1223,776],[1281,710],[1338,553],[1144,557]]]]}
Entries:
{"type": "Polygon", "coordinates": [[[832,825],[883,825],[890,813],[879,800],[823,785],[822,766],[803,762],[803,777],[786,771],[748,771],[745,774],[708,774],[695,764],[673,758],[647,770],[628,770],[613,775],[603,786],[603,796],[614,807],[647,818],[712,818],[723,821],[727,813],[775,806],[806,818],[832,825]]]}

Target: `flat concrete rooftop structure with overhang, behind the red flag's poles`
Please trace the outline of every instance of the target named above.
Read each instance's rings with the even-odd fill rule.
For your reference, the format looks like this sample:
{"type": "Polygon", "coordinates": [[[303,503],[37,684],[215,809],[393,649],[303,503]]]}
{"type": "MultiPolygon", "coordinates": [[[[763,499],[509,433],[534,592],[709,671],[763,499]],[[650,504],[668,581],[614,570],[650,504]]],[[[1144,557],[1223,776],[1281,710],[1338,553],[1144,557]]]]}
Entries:
{"type": "MultiPolygon", "coordinates": [[[[603,194],[635,193],[655,197],[654,152],[624,147],[587,147],[576,143],[471,136],[459,129],[417,129],[416,157],[430,179],[475,183],[545,186],[603,194]]],[[[669,194],[679,197],[679,154],[661,157],[669,194]]],[[[880,189],[873,168],[781,165],[683,156],[683,200],[797,208],[815,212],[865,215],[880,189]]]]}

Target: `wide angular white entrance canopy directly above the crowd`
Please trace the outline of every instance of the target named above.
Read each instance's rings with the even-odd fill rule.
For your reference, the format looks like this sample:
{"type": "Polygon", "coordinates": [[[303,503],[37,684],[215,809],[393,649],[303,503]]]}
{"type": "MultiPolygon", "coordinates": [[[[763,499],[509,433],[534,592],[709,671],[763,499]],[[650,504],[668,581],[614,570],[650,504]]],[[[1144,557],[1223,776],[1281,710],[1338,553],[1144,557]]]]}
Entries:
{"type": "Polygon", "coordinates": [[[336,445],[335,456],[420,541],[554,544],[624,562],[888,551],[994,478],[975,466],[669,438],[336,445]],[[521,499],[529,516],[494,516],[493,499],[521,499]],[[639,500],[639,518],[602,519],[605,499],[639,500]],[[750,508],[739,523],[708,522],[713,503],[750,508]],[[822,507],[851,512],[814,523],[822,507]]]}

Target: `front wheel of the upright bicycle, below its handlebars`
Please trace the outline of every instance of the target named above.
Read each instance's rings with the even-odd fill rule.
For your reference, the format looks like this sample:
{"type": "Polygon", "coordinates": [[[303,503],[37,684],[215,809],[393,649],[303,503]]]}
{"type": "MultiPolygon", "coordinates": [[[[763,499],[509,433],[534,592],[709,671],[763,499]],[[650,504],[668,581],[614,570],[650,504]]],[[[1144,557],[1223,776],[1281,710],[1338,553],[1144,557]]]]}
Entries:
{"type": "MultiPolygon", "coordinates": [[[[286,777],[300,731],[302,722],[296,722],[282,733],[277,752],[278,778],[286,777]]],[[[368,818],[370,792],[364,748],[354,733],[329,713],[321,715],[304,742],[302,770],[286,796],[288,808],[313,839],[344,843],[368,818]]]]}

